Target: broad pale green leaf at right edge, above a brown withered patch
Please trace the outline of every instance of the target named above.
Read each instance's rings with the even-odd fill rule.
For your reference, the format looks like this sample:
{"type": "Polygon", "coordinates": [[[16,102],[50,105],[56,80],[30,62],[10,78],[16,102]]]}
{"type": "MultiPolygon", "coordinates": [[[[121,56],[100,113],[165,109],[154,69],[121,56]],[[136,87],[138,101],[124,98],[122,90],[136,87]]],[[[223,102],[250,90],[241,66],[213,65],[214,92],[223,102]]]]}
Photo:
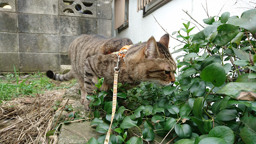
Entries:
{"type": "Polygon", "coordinates": [[[256,93],[256,82],[230,82],[221,87],[217,93],[236,98],[242,91],[256,93]]]}

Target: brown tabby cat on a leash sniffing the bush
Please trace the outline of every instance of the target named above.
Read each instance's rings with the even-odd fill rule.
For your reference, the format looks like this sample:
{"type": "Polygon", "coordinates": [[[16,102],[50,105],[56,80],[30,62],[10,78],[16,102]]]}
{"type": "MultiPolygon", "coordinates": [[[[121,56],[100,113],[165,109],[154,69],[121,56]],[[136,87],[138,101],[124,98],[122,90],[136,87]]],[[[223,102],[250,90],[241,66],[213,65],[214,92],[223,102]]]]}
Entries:
{"type": "MultiPolygon", "coordinates": [[[[175,81],[176,64],[168,51],[169,35],[164,34],[159,42],[150,37],[146,42],[132,45],[125,57],[120,58],[118,82],[129,84],[126,88],[137,86],[141,81],[169,85],[175,81]]],[[[113,86],[114,67],[119,51],[124,45],[132,44],[129,38],[106,38],[100,35],[81,35],[69,46],[68,57],[72,69],[66,74],[56,74],[51,70],[46,75],[55,80],[76,78],[81,91],[81,103],[89,109],[87,94],[92,94],[97,78],[104,77],[100,90],[113,86]]]]}

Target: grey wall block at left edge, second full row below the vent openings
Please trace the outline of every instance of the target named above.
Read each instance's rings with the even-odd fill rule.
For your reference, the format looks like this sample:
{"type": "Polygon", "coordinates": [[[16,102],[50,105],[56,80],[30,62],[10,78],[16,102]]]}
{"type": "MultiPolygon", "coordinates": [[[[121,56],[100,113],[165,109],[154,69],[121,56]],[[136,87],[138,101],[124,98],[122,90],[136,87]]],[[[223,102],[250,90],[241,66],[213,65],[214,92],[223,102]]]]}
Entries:
{"type": "Polygon", "coordinates": [[[0,32],[0,52],[18,52],[17,33],[0,32]]]}

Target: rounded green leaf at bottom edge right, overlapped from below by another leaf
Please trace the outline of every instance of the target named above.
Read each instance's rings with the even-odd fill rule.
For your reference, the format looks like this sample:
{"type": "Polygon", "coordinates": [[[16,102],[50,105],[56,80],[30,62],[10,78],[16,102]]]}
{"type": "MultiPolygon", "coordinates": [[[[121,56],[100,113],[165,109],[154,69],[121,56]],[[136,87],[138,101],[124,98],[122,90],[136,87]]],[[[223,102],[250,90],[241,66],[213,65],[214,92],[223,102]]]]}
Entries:
{"type": "Polygon", "coordinates": [[[234,143],[234,133],[233,130],[230,129],[227,126],[216,126],[213,127],[209,133],[209,137],[219,137],[226,141],[227,144],[233,144],[234,143]]]}

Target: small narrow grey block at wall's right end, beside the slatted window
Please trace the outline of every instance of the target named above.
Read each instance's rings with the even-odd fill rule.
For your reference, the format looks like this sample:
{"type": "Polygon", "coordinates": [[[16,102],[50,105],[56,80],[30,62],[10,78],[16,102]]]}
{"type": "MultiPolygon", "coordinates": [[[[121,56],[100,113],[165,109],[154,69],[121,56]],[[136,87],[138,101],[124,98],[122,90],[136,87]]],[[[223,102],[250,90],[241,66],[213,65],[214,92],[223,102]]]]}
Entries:
{"type": "Polygon", "coordinates": [[[111,37],[111,19],[98,19],[98,34],[111,37]]]}

